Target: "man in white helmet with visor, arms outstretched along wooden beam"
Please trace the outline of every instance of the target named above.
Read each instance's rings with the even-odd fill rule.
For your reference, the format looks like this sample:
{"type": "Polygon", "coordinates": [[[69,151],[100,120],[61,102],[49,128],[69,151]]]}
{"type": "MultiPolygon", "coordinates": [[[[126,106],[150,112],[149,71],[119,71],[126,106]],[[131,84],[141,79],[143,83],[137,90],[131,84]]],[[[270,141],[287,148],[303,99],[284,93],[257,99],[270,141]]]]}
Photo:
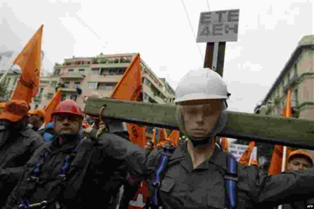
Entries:
{"type": "Polygon", "coordinates": [[[271,208],[314,197],[314,169],[261,176],[215,146],[227,121],[225,82],[211,69],[190,70],[176,89],[176,119],[189,138],[173,149],[147,152],[103,134],[106,154],[124,159],[151,189],[150,208],[271,208]],[[166,163],[165,163],[166,162],[166,163]]]}

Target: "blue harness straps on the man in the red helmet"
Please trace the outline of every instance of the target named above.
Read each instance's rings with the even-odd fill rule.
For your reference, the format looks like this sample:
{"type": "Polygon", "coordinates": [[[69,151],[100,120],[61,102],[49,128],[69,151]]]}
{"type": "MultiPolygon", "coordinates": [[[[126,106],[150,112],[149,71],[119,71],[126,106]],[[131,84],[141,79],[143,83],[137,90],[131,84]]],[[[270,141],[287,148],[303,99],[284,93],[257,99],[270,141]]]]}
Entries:
{"type": "MultiPolygon", "coordinates": [[[[56,180],[59,180],[59,184],[57,186],[59,186],[60,184],[64,183],[66,180],[66,174],[68,171],[68,168],[70,167],[71,163],[73,162],[76,153],[78,152],[78,146],[80,145],[80,143],[84,140],[84,138],[80,139],[78,145],[73,149],[73,151],[71,152],[71,154],[68,154],[63,162],[63,166],[61,168],[60,174],[57,176],[56,180]]],[[[32,187],[30,190],[26,191],[26,193],[23,195],[21,204],[19,205],[19,208],[25,208],[25,209],[29,209],[30,208],[30,202],[27,200],[26,197],[30,197],[30,195],[33,193],[33,191],[35,190],[35,185],[36,184],[43,184],[46,183],[46,181],[48,180],[41,180],[39,178],[40,174],[41,174],[41,167],[43,166],[44,162],[45,162],[45,158],[47,158],[49,156],[49,152],[46,151],[44,154],[41,155],[41,157],[39,158],[39,161],[37,163],[35,163],[35,168],[34,168],[34,175],[30,176],[27,181],[32,184],[32,187]]],[[[51,179],[49,179],[51,180],[51,179]]],[[[48,180],[48,181],[49,181],[48,180]]],[[[51,201],[49,201],[51,202],[51,201]]]]}

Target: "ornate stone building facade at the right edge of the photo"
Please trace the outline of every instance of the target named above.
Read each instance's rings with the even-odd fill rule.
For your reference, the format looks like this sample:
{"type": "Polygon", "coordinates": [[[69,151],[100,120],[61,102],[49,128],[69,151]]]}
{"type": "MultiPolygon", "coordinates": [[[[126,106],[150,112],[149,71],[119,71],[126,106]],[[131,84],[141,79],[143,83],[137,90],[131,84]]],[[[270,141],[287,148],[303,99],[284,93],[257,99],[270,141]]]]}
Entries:
{"type": "MultiPolygon", "coordinates": [[[[314,35],[304,36],[298,43],[269,89],[262,104],[255,107],[256,114],[281,116],[290,89],[292,114],[295,118],[314,118],[314,35]]],[[[256,143],[258,153],[269,160],[273,145],[256,143]]],[[[309,151],[309,150],[307,150],[309,151]]],[[[310,151],[311,152],[311,151],[310,151]]],[[[312,156],[313,155],[313,152],[312,156]]],[[[259,155],[260,155],[259,154],[259,155]]],[[[266,168],[268,169],[268,166],[266,168]]]]}

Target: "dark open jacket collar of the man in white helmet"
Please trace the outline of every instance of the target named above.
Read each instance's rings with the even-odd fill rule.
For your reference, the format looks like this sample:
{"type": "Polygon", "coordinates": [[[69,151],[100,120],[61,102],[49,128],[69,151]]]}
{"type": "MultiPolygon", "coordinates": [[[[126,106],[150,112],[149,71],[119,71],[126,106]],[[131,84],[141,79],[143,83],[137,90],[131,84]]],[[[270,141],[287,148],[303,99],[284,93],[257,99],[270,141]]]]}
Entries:
{"type": "MultiPolygon", "coordinates": [[[[191,161],[192,159],[190,154],[187,152],[187,142],[182,143],[179,147],[176,148],[174,153],[170,158],[171,161],[177,161],[180,159],[182,165],[187,167],[187,161],[191,161]],[[185,163],[185,162],[186,163],[185,163]]],[[[227,170],[227,153],[223,152],[219,147],[215,146],[215,150],[209,160],[204,161],[198,166],[198,169],[208,169],[209,163],[215,164],[218,167],[227,170]]],[[[188,163],[190,164],[190,163],[188,163]]]]}

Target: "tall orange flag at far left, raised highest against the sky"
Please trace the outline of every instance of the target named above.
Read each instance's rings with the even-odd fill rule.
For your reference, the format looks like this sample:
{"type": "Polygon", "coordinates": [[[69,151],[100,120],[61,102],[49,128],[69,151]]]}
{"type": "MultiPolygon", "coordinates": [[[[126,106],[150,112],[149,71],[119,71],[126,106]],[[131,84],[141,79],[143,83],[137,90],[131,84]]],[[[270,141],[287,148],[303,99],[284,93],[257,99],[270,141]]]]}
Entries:
{"type": "Polygon", "coordinates": [[[24,49],[14,59],[13,63],[19,65],[22,75],[14,90],[12,99],[24,100],[31,103],[38,93],[39,77],[41,74],[41,40],[43,26],[36,31],[24,49]]]}

